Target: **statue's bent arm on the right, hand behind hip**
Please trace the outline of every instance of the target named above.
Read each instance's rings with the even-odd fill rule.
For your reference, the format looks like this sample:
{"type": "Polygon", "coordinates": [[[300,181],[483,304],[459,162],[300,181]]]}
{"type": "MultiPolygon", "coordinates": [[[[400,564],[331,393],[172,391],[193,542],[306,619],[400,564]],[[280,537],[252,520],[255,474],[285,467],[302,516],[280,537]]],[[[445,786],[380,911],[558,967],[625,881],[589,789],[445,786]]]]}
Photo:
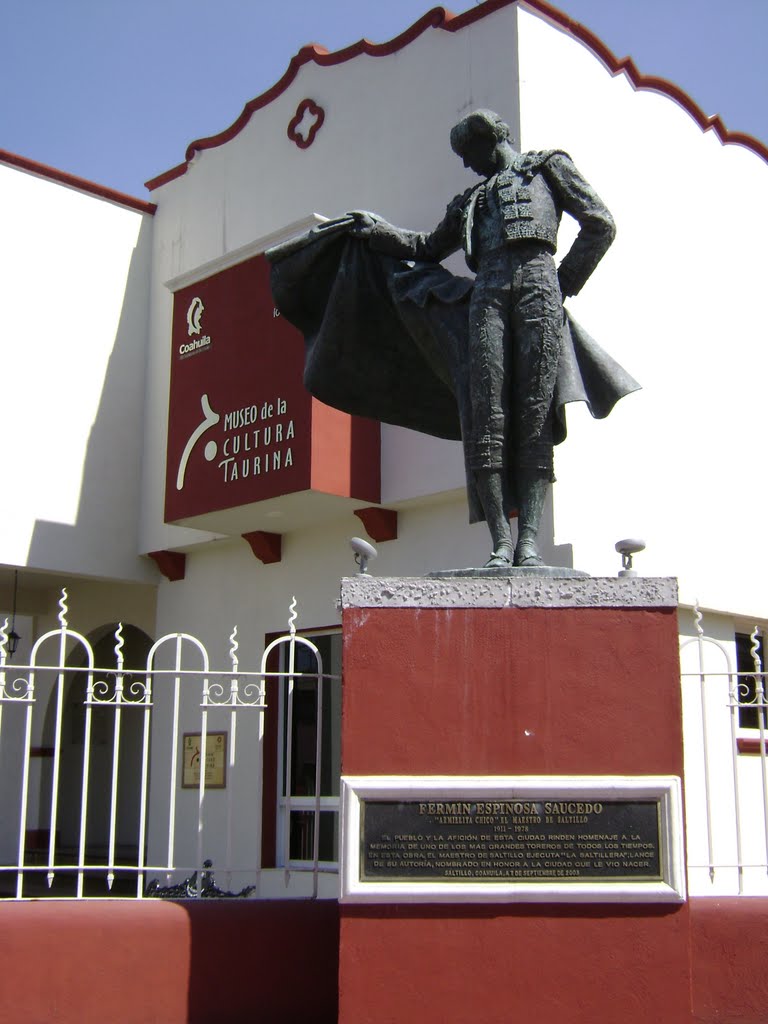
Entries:
{"type": "Polygon", "coordinates": [[[608,208],[567,154],[553,153],[542,170],[559,206],[581,228],[557,271],[564,298],[581,292],[615,238],[616,226],[608,208]]]}

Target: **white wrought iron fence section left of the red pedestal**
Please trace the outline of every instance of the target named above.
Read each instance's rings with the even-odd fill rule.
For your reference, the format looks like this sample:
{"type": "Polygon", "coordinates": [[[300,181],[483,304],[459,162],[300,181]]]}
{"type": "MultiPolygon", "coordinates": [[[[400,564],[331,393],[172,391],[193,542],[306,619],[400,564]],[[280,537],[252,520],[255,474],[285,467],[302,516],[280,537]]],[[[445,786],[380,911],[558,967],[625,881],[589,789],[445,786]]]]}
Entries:
{"type": "Polygon", "coordinates": [[[340,678],[324,673],[317,645],[297,632],[295,599],[288,633],[253,671],[240,665],[237,627],[225,669],[186,633],[157,640],[139,668],[126,666],[122,625],[114,665],[97,666],[92,644],[69,626],[67,602],[63,590],[59,626],[36,641],[27,665],[12,664],[7,620],[0,627],[0,896],[259,895],[269,805],[285,851],[281,895],[293,894],[293,872],[310,872],[316,896],[318,876],[336,870],[319,849],[322,815],[338,812],[323,793],[322,723],[327,688],[340,678]],[[269,773],[279,793],[264,792],[270,679],[283,709],[284,763],[269,773]],[[294,797],[291,778],[297,685],[312,689],[317,709],[309,798],[294,797]],[[300,857],[293,805],[308,823],[300,857]],[[215,885],[212,853],[238,893],[215,885]]]}

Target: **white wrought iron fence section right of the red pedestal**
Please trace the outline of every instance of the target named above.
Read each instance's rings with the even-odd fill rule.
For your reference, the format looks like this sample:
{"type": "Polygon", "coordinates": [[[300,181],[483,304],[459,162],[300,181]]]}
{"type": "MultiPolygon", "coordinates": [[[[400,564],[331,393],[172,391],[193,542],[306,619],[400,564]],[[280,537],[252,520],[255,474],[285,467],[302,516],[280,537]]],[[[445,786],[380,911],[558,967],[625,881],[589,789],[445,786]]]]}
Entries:
{"type": "Polygon", "coordinates": [[[697,608],[694,621],[680,651],[689,890],[768,895],[762,637],[756,628],[739,659],[732,639],[705,635],[697,608]]]}

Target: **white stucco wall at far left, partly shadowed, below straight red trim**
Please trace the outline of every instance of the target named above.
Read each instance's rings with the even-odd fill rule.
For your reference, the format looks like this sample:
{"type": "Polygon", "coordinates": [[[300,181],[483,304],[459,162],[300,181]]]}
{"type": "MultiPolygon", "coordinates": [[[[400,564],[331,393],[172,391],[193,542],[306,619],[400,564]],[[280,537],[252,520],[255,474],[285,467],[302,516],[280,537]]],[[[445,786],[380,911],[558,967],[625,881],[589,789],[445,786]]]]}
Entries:
{"type": "Polygon", "coordinates": [[[0,164],[0,563],[155,580],[137,516],[151,218],[0,164]]]}

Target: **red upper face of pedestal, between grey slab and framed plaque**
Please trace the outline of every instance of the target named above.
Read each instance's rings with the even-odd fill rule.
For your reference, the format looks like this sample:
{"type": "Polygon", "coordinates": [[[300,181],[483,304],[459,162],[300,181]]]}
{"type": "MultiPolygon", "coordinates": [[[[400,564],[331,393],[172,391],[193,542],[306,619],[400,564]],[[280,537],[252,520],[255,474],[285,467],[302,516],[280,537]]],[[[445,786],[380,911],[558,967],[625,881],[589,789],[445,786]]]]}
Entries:
{"type": "Polygon", "coordinates": [[[343,771],[683,773],[674,609],[352,608],[343,771]]]}

